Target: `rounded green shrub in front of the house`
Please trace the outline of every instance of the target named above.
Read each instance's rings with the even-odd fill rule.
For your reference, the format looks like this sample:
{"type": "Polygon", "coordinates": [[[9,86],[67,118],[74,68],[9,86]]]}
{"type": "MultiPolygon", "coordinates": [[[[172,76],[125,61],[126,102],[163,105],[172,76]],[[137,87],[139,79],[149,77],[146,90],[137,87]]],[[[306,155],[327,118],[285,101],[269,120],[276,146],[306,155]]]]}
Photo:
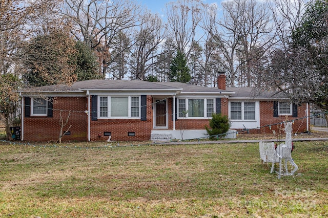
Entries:
{"type": "Polygon", "coordinates": [[[226,135],[231,123],[228,116],[222,114],[212,114],[212,119],[210,120],[210,127],[205,126],[210,139],[214,140],[221,138],[226,135]]]}

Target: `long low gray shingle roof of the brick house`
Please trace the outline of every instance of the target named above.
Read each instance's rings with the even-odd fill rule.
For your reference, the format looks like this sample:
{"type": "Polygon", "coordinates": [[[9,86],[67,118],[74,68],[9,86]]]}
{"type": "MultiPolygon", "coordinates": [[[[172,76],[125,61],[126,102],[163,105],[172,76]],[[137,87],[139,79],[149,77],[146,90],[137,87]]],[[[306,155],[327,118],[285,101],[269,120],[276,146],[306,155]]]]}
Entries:
{"type": "Polygon", "coordinates": [[[177,91],[181,93],[207,93],[228,94],[231,98],[256,98],[256,99],[285,99],[282,93],[265,90],[264,88],[227,88],[220,90],[199,85],[181,82],[148,82],[142,80],[108,80],[94,79],[79,81],[68,85],[47,85],[22,90],[22,92],[84,92],[86,90],[162,90],[177,91]]]}

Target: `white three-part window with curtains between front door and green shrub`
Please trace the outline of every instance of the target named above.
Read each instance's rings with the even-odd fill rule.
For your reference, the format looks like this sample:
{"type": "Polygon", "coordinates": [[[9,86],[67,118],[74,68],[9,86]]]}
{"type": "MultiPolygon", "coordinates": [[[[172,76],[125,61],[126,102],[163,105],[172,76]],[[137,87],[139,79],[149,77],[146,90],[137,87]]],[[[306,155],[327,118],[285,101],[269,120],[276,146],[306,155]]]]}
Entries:
{"type": "Polygon", "coordinates": [[[178,118],[210,118],[215,113],[215,101],[211,98],[181,98],[177,104],[178,118]]]}

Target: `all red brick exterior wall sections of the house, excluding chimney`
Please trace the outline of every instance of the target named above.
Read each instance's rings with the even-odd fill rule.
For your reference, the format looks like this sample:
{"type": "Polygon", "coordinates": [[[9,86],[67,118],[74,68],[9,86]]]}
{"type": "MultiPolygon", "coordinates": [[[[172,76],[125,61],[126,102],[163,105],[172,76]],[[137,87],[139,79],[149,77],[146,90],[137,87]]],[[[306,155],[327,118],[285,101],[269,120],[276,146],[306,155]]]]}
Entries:
{"type": "MultiPolygon", "coordinates": [[[[87,97],[55,97],[53,105],[53,117],[24,117],[24,140],[26,141],[54,141],[59,136],[59,113],[64,120],[71,111],[69,122],[64,127],[66,130],[70,125],[71,135],[63,136],[62,141],[87,141],[88,140],[88,116],[84,113],[87,110],[87,97]]],[[[169,129],[173,129],[172,120],[172,98],[168,99],[169,111],[169,129]]],[[[306,129],[306,120],[302,119],[306,110],[306,104],[298,106],[298,117],[289,117],[295,120],[293,124],[294,133],[304,132],[306,129]]],[[[221,112],[228,115],[228,99],[221,99],[221,112]]],[[[251,130],[251,133],[270,133],[275,130],[278,134],[278,125],[265,126],[269,124],[280,123],[285,120],[285,116],[273,117],[273,102],[260,102],[260,129],[251,130]]],[[[111,140],[115,141],[134,141],[149,140],[151,129],[153,127],[153,110],[152,96],[147,96],[147,121],[140,119],[103,119],[91,121],[91,141],[107,140],[108,136],[104,136],[104,132],[111,132],[111,140]],[[135,136],[128,136],[128,132],[134,132],[135,136]]],[[[208,119],[178,119],[176,121],[176,129],[204,129],[209,124],[208,119]]]]}

